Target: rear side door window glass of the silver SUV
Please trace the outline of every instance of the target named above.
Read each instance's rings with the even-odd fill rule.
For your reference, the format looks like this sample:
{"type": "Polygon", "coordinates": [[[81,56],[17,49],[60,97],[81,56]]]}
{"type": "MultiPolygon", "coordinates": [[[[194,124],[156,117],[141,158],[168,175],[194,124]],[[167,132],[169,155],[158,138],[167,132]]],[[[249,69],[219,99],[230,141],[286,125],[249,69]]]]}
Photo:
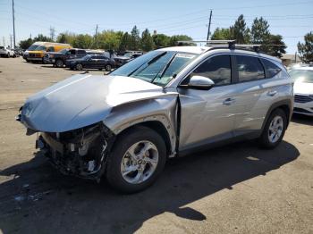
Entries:
{"type": "Polygon", "coordinates": [[[263,65],[257,57],[235,55],[239,82],[265,79],[263,65]]]}

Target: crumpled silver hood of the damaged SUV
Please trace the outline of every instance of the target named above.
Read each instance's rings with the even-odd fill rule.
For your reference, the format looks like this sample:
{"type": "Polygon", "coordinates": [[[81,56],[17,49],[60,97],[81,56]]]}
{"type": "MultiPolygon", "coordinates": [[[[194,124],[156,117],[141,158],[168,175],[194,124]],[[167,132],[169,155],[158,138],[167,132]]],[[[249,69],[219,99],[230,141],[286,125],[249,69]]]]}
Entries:
{"type": "Polygon", "coordinates": [[[112,108],[157,96],[164,89],[130,77],[80,74],[30,96],[21,122],[31,130],[63,132],[104,121],[112,108]]]}

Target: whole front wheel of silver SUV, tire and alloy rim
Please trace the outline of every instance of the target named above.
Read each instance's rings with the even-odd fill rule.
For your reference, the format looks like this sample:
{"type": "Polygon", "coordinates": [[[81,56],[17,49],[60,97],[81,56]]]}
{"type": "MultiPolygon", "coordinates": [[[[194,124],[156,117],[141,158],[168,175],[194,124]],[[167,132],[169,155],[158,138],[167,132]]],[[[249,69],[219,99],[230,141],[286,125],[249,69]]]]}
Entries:
{"type": "Polygon", "coordinates": [[[136,127],[116,138],[106,165],[106,179],[124,193],[148,188],[163,171],[166,147],[154,130],[136,127]]]}

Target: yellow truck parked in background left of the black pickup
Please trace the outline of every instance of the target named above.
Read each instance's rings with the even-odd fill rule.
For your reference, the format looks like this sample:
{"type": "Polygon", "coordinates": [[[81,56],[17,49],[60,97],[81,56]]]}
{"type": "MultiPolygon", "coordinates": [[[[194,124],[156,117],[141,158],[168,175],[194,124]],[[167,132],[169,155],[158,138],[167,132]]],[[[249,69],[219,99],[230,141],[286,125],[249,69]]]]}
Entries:
{"type": "MultiPolygon", "coordinates": [[[[35,42],[36,43],[36,42],[35,42]]],[[[43,42],[36,47],[36,50],[30,51],[26,56],[27,62],[44,62],[46,52],[58,52],[62,49],[72,48],[70,44],[43,42]]]]}

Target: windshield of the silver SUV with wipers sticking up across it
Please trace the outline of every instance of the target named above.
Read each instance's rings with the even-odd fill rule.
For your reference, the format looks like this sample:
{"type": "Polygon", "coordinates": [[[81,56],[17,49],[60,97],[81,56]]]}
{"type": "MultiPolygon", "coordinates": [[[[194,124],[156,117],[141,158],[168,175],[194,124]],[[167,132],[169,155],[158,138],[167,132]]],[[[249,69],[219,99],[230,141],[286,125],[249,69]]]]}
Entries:
{"type": "Polygon", "coordinates": [[[151,51],[126,63],[111,75],[142,79],[164,87],[196,56],[175,51],[151,51]]]}

